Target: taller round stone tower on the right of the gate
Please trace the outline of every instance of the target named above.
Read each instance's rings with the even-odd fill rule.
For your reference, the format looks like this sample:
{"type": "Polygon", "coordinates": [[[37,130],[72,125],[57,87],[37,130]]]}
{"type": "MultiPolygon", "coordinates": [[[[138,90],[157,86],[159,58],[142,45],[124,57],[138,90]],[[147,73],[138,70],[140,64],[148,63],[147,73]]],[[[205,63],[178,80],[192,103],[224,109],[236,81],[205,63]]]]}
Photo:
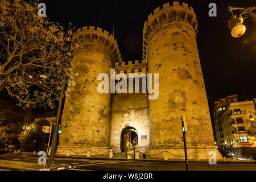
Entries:
{"type": "MultiPolygon", "coordinates": [[[[159,98],[149,101],[150,154],[166,150],[184,155],[181,115],[187,118],[188,154],[214,150],[212,125],[196,44],[197,20],[192,7],[173,2],[158,7],[143,28],[143,59],[148,73],[159,73],[159,98]]],[[[171,156],[170,156],[171,157],[171,156]]]]}

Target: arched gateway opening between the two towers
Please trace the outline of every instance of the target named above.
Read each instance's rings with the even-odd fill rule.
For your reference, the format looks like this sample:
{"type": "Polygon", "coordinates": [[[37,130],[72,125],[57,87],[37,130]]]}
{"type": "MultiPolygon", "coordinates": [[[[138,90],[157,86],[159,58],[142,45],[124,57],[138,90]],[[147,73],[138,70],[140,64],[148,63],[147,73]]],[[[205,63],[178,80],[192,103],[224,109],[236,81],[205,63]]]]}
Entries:
{"type": "Polygon", "coordinates": [[[134,151],[138,148],[138,132],[134,127],[127,126],[121,132],[121,153],[134,151]]]}

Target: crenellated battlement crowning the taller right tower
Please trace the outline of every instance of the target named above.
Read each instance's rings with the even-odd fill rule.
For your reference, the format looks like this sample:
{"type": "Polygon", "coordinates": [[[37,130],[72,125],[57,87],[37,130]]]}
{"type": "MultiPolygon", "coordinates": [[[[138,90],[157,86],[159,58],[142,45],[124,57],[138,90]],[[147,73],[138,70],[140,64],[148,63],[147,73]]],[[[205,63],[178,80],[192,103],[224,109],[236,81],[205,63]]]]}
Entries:
{"type": "Polygon", "coordinates": [[[157,31],[160,27],[174,22],[187,23],[193,28],[197,34],[197,20],[196,14],[192,7],[188,7],[187,3],[180,3],[174,1],[173,5],[165,3],[163,8],[156,8],[154,13],[148,15],[143,27],[143,59],[146,59],[146,48],[148,36],[157,31]]]}

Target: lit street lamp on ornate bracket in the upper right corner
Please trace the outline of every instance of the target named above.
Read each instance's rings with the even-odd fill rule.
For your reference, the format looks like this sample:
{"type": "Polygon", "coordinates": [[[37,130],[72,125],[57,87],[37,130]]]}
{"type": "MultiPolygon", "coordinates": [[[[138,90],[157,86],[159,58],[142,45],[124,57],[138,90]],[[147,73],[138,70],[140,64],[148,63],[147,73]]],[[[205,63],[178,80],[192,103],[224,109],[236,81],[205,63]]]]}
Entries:
{"type": "Polygon", "coordinates": [[[228,20],[228,28],[231,30],[231,35],[234,38],[239,38],[245,33],[245,26],[243,25],[243,20],[246,19],[248,16],[253,18],[254,22],[256,23],[256,13],[253,11],[256,10],[256,6],[249,7],[247,9],[242,7],[231,7],[229,6],[228,11],[232,14],[230,20],[228,20]],[[237,16],[233,14],[234,10],[238,10],[241,13],[237,16]]]}

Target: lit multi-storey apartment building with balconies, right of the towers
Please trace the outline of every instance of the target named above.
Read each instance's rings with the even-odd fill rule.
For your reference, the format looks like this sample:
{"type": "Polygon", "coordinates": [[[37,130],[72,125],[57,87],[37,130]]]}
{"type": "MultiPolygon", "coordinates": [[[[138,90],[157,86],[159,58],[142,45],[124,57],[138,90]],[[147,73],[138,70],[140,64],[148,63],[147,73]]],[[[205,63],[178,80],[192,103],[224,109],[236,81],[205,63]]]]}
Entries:
{"type": "Polygon", "coordinates": [[[237,95],[232,95],[219,98],[214,105],[214,139],[220,150],[240,157],[256,154],[256,139],[246,134],[251,125],[249,117],[255,110],[254,102],[238,102],[237,95]]]}

